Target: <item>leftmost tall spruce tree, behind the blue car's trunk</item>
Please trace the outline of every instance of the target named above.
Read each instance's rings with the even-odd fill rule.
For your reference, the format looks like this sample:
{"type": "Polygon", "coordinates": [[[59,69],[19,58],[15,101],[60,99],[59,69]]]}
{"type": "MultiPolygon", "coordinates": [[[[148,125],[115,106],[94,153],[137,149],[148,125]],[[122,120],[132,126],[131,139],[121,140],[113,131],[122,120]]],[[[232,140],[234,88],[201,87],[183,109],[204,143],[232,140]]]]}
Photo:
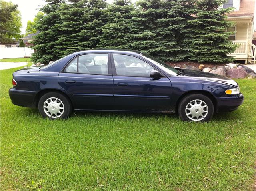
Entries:
{"type": "Polygon", "coordinates": [[[60,32],[56,24],[60,23],[59,9],[63,0],[46,0],[46,5],[40,11],[44,16],[38,21],[37,29],[40,33],[35,36],[33,62],[48,64],[51,60],[59,58],[59,52],[56,48],[58,34],[60,32]]]}

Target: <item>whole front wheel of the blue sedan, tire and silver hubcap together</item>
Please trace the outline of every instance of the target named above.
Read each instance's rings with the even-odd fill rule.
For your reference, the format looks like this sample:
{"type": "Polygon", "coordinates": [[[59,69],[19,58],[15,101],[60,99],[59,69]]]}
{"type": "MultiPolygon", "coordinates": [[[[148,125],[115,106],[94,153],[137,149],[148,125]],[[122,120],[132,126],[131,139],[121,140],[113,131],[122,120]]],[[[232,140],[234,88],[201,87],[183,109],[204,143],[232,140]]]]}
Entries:
{"type": "Polygon", "coordinates": [[[207,96],[190,94],[181,100],[178,113],[183,121],[209,121],[214,113],[214,106],[207,96]]]}

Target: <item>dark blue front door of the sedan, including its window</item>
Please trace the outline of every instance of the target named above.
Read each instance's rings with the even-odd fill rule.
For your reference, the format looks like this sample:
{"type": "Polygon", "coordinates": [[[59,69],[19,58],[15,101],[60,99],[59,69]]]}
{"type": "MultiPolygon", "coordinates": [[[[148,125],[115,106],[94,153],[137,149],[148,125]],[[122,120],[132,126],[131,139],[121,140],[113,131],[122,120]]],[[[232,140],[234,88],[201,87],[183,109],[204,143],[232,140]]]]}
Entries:
{"type": "Polygon", "coordinates": [[[157,70],[142,59],[111,54],[115,109],[132,111],[168,111],[172,94],[169,78],[151,78],[157,70]]]}

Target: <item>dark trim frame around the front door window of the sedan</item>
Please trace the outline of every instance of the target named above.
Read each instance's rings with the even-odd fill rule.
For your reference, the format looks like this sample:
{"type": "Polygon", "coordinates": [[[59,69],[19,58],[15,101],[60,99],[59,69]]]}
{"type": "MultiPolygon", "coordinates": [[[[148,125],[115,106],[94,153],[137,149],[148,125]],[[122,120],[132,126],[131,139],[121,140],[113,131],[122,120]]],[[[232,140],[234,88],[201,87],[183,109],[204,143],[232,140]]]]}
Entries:
{"type": "MultiPolygon", "coordinates": [[[[151,62],[149,62],[148,60],[144,60],[142,59],[141,57],[138,57],[138,56],[135,56],[135,55],[130,55],[130,54],[125,54],[125,53],[110,53],[110,57],[111,57],[111,65],[112,65],[112,75],[113,76],[122,76],[122,75],[118,75],[116,73],[116,66],[115,66],[115,62],[114,62],[114,57],[113,57],[113,54],[120,54],[120,55],[126,55],[126,56],[132,56],[132,57],[135,57],[135,58],[138,58],[140,60],[142,60],[143,62],[146,62],[147,64],[149,64],[150,66],[152,66],[152,68],[154,68],[154,70],[160,72],[160,74],[162,75],[162,77],[159,77],[159,78],[167,78],[166,75],[161,71],[159,70],[159,68],[157,68],[154,64],[152,64],[151,62]]],[[[145,77],[145,76],[123,76],[123,77],[134,77],[134,78],[152,78],[152,77],[145,77]]]]}

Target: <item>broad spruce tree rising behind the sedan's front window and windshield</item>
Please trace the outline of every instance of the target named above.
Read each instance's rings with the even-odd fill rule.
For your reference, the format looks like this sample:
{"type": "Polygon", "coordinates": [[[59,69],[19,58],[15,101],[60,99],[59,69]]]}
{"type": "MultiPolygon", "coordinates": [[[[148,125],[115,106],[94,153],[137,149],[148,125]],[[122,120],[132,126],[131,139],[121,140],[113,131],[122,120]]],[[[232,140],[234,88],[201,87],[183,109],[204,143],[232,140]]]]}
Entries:
{"type": "Polygon", "coordinates": [[[146,52],[163,61],[180,61],[187,56],[182,49],[190,1],[140,0],[131,27],[132,49],[146,52]]]}

